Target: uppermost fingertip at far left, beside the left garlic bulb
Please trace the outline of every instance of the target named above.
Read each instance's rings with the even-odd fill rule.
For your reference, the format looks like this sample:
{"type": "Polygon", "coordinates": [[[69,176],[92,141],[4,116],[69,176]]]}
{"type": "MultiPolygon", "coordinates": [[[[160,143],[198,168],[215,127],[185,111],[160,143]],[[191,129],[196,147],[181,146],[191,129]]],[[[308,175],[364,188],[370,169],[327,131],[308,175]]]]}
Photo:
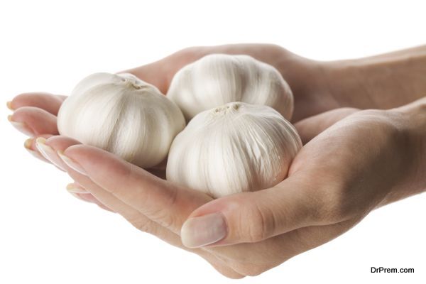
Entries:
{"type": "Polygon", "coordinates": [[[45,92],[24,93],[18,94],[11,102],[8,102],[8,107],[11,110],[16,110],[21,107],[37,107],[38,109],[44,109],[56,116],[65,98],[66,96],[45,92]]]}

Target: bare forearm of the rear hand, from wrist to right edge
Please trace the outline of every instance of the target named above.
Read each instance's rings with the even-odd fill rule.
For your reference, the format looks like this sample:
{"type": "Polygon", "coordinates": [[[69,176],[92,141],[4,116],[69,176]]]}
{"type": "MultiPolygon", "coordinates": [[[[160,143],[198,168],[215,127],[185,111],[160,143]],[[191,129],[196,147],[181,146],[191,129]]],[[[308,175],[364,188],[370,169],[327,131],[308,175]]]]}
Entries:
{"type": "Polygon", "coordinates": [[[342,107],[391,109],[426,96],[426,45],[322,66],[342,107]]]}

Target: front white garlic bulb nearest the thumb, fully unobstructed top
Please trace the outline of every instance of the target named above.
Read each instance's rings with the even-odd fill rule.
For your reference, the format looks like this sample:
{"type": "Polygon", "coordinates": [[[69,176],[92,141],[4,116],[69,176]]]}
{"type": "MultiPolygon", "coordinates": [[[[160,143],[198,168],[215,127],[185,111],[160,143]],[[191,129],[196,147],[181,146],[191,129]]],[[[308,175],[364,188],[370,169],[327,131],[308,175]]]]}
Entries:
{"type": "Polygon", "coordinates": [[[170,147],[167,179],[217,198],[278,184],[302,147],[271,107],[232,102],[197,114],[170,147]]]}

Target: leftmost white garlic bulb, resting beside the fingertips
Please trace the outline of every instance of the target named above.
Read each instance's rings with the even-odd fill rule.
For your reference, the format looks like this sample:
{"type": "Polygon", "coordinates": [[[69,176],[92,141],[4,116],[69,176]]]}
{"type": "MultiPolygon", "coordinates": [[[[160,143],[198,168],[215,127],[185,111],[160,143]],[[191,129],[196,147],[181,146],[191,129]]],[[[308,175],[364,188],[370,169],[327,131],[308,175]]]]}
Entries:
{"type": "Polygon", "coordinates": [[[179,107],[152,84],[123,73],[95,73],[75,86],[58,112],[61,135],[102,148],[141,168],[167,158],[185,127],[179,107]]]}

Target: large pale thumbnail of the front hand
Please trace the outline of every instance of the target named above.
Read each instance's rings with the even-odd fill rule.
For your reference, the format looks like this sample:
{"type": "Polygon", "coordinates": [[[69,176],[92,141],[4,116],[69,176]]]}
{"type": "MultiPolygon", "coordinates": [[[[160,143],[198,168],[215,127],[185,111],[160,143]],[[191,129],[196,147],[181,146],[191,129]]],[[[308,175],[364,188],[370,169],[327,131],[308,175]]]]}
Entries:
{"type": "Polygon", "coordinates": [[[222,213],[207,214],[187,219],[180,231],[182,244],[197,248],[213,244],[226,236],[227,228],[222,213]]]}

